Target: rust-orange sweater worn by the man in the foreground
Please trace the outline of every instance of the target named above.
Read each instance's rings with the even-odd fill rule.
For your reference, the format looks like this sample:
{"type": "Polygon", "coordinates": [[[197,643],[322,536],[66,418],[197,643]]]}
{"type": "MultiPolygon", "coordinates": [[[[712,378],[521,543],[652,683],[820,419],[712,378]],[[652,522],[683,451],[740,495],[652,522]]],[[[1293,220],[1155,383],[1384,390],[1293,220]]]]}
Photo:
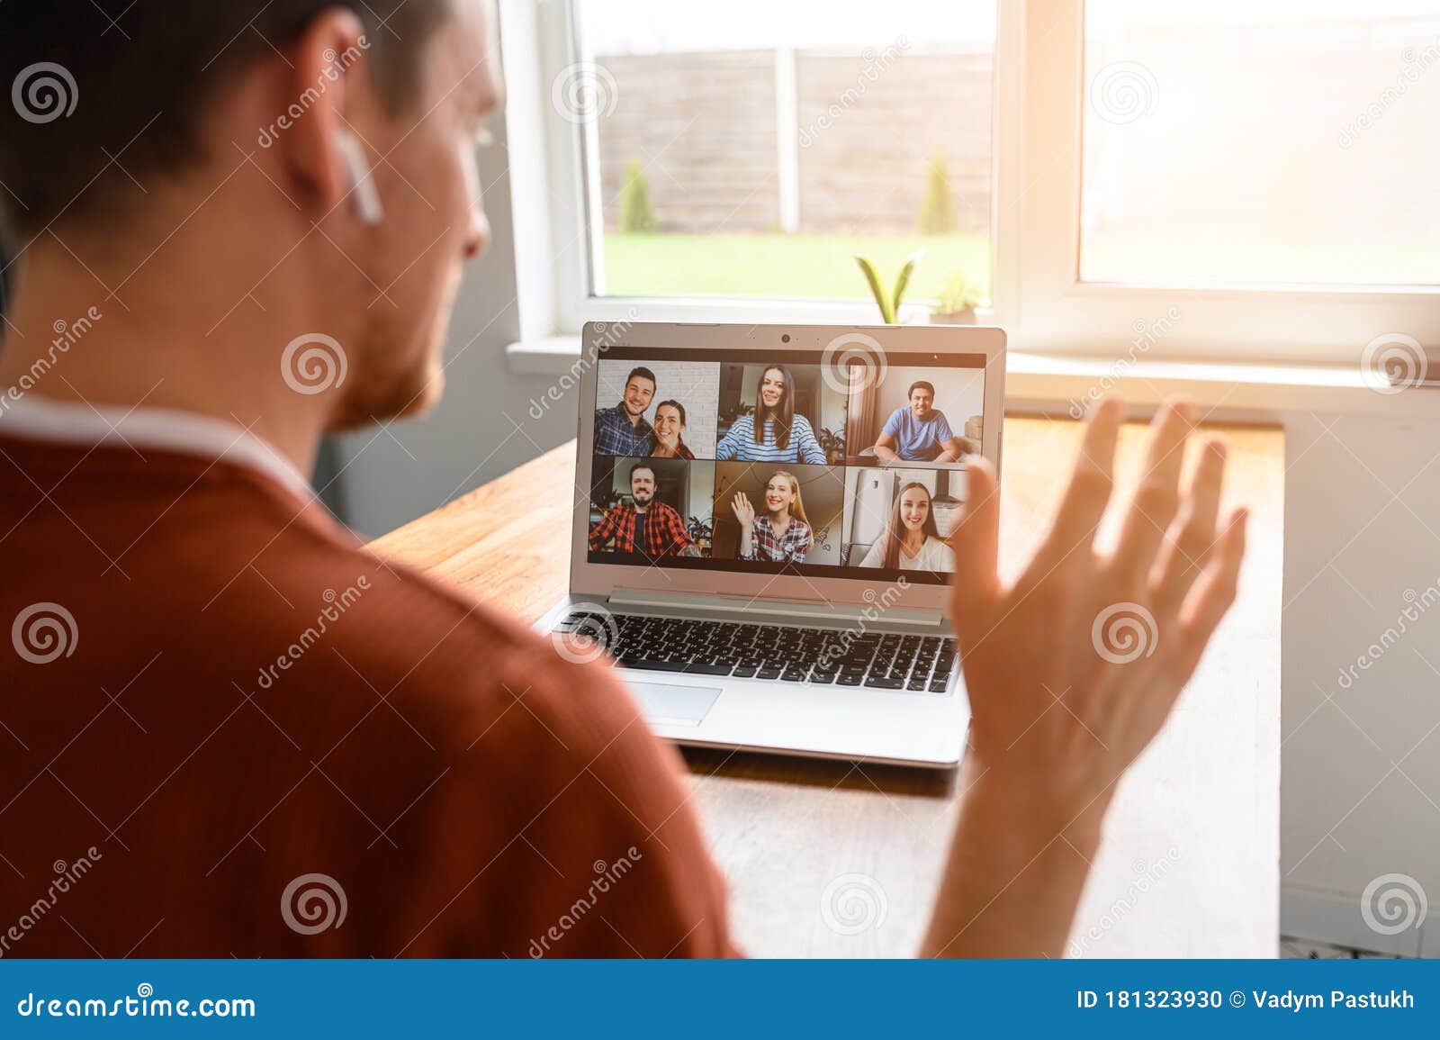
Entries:
{"type": "Polygon", "coordinates": [[[269,477],[0,436],[0,955],[730,952],[606,670],[269,477]]]}

